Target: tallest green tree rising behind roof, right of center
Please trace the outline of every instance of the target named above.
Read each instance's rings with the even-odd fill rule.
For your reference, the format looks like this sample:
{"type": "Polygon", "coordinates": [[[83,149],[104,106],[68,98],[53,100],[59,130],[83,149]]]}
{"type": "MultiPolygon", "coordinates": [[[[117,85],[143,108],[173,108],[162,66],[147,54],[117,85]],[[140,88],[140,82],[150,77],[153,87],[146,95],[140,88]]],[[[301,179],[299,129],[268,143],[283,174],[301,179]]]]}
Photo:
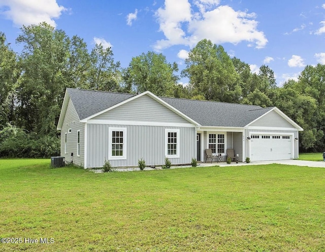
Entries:
{"type": "Polygon", "coordinates": [[[221,45],[201,40],[189,52],[185,64],[182,75],[189,78],[195,94],[203,94],[206,100],[239,102],[242,97],[240,78],[221,45]]]}

